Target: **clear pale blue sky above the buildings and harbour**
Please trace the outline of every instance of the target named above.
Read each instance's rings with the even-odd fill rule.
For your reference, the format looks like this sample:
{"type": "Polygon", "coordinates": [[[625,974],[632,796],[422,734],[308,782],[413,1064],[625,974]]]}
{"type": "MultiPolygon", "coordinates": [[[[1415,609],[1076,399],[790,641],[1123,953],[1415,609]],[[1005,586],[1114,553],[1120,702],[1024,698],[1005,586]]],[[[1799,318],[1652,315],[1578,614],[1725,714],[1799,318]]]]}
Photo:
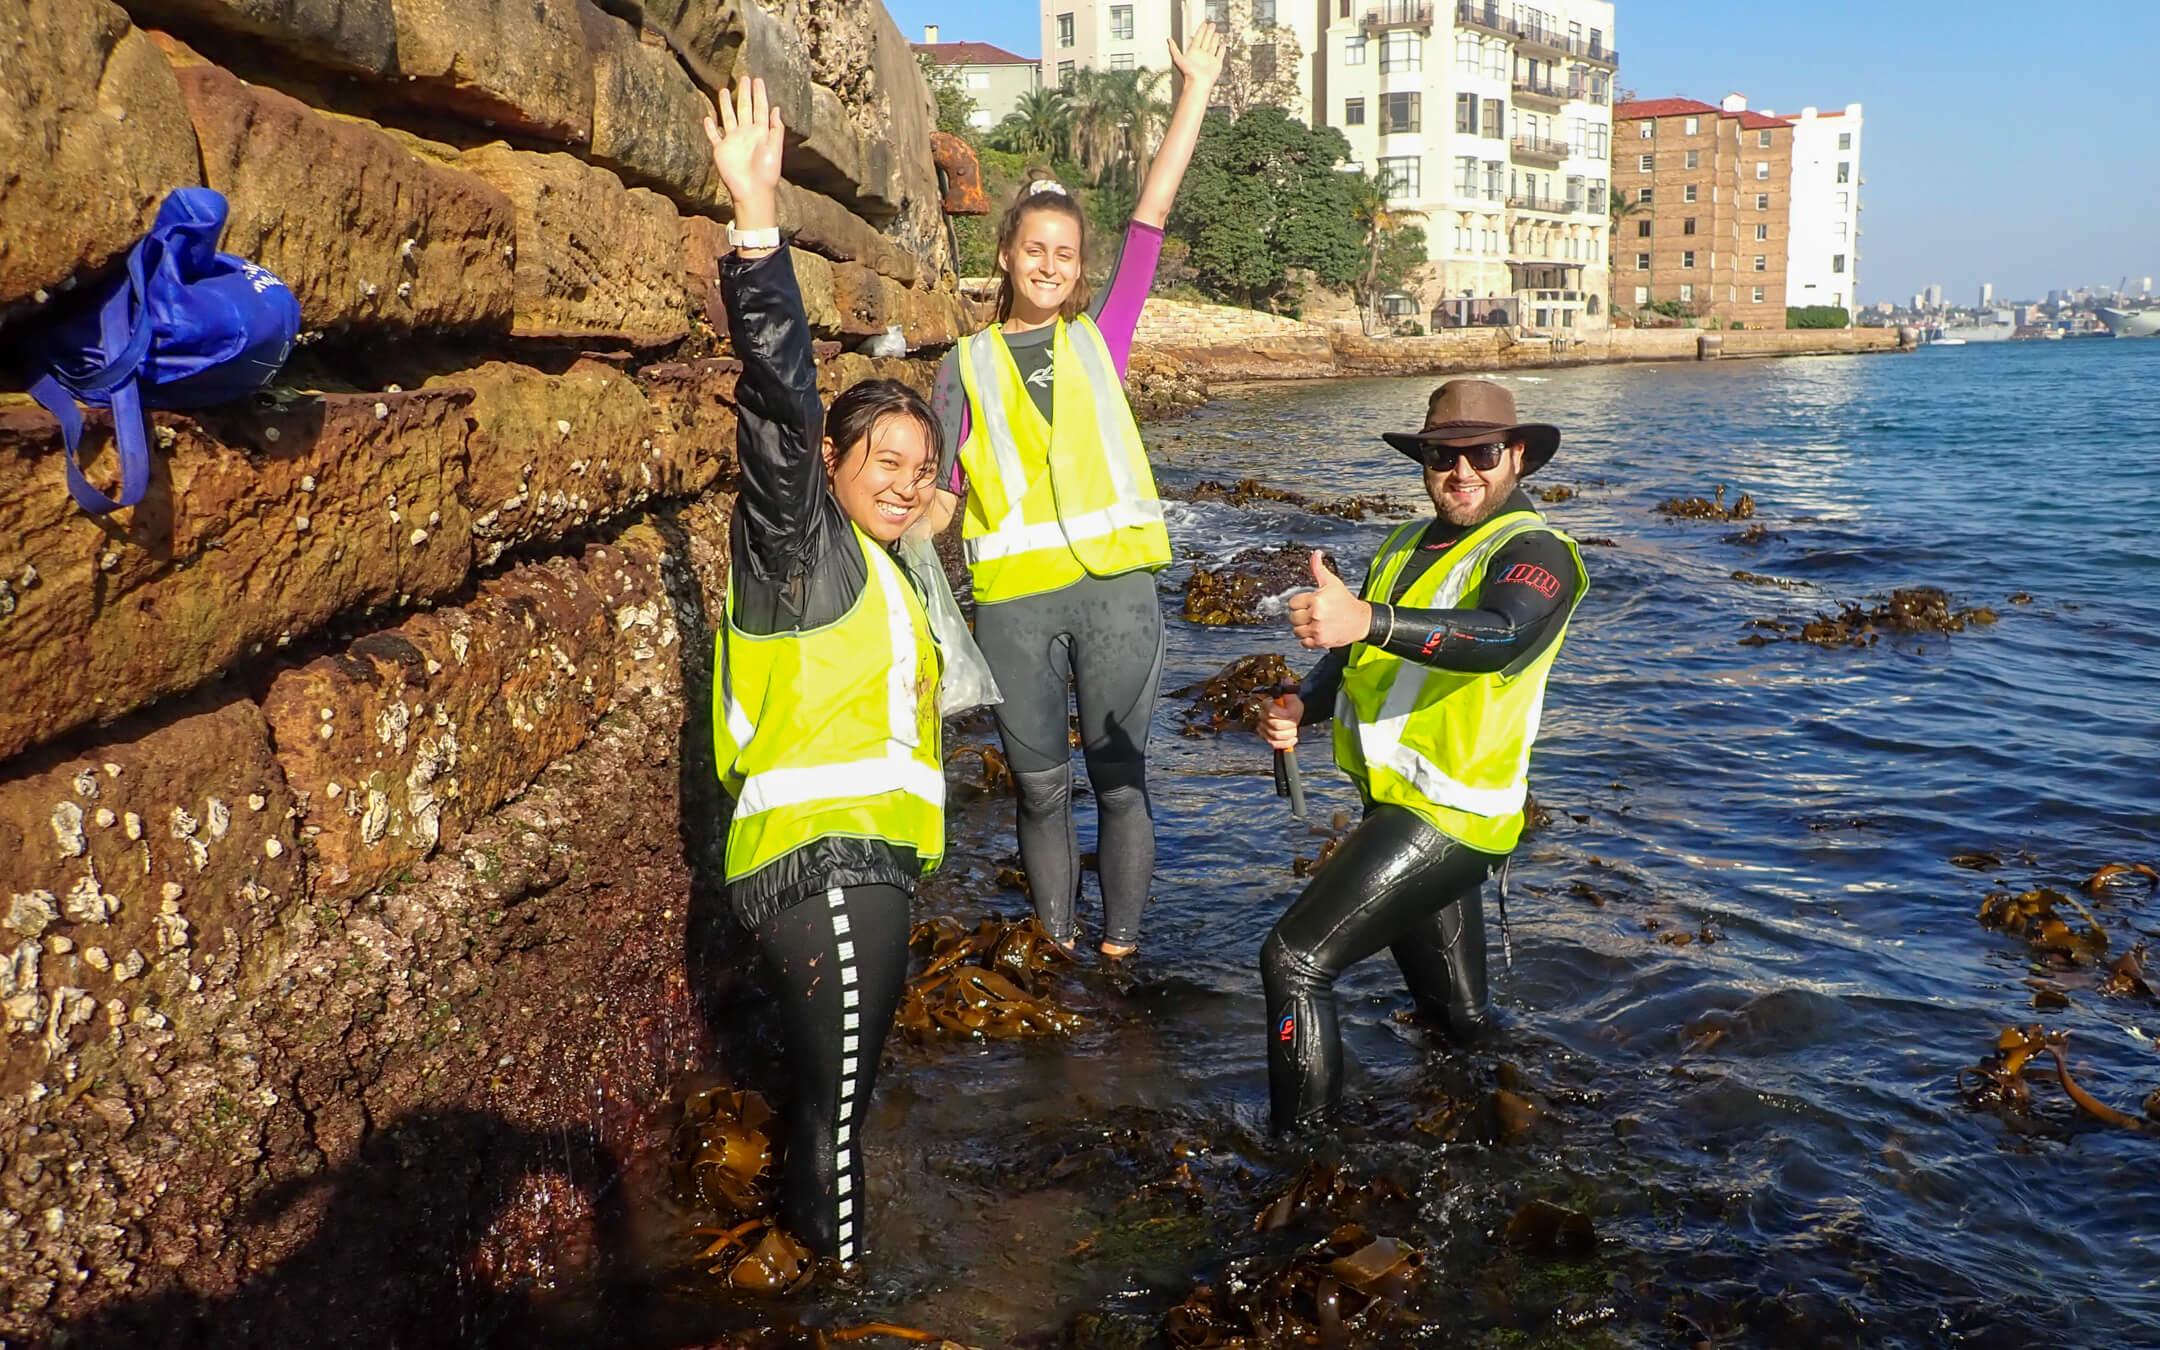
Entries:
{"type": "MultiPolygon", "coordinates": [[[[1041,56],[1032,0],[886,6],[1041,56]]],[[[2160,281],[2160,0],[1618,0],[1614,28],[1642,97],[1866,104],[1866,302],[2160,281]]]]}

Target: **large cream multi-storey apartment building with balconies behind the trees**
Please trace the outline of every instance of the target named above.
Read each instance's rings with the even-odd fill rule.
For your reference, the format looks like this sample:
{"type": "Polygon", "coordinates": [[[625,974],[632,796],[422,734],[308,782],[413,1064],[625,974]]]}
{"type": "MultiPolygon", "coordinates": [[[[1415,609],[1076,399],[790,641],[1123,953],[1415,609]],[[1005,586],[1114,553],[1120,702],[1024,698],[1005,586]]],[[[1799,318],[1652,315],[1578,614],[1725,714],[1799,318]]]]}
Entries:
{"type": "Polygon", "coordinates": [[[1307,125],[1415,212],[1428,264],[1389,298],[1439,326],[1605,328],[1614,0],[1043,0],[1043,84],[1156,67],[1203,19],[1287,26],[1307,125]]]}

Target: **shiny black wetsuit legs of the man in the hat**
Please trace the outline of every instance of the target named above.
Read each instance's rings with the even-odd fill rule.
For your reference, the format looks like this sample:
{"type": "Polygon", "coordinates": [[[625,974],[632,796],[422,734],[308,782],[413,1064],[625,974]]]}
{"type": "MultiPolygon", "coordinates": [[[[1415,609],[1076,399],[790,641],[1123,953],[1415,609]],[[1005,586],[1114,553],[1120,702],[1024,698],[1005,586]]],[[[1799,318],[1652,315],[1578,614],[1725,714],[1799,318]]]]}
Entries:
{"type": "Polygon", "coordinates": [[[1482,886],[1497,862],[1400,806],[1374,806],[1292,901],[1259,948],[1279,1132],[1324,1121],[1341,1099],[1335,978],[1382,946],[1419,1013],[1449,1039],[1477,1035],[1486,1020],[1482,886]]]}

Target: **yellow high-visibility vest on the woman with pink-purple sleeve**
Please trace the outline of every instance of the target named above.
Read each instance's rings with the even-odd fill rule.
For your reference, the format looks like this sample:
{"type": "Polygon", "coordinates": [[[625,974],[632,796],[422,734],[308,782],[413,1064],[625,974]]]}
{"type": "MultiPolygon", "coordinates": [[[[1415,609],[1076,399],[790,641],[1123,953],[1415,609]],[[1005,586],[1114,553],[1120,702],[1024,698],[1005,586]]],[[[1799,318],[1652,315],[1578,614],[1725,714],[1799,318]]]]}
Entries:
{"type": "Polygon", "coordinates": [[[1156,473],[1095,320],[1058,320],[1043,421],[1013,350],[991,326],[959,339],[968,391],[961,540],[985,605],[1171,564],[1156,473]]]}

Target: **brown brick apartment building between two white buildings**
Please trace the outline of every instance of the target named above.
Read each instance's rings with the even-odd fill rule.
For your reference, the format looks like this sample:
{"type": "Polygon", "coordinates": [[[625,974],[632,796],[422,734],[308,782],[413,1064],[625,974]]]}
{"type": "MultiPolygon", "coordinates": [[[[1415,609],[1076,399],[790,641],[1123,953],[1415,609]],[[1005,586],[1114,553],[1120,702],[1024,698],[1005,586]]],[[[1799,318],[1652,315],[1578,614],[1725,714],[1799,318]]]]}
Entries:
{"type": "Polygon", "coordinates": [[[1678,302],[1730,328],[1784,328],[1793,123],[1696,99],[1614,106],[1614,309],[1678,302]]]}

